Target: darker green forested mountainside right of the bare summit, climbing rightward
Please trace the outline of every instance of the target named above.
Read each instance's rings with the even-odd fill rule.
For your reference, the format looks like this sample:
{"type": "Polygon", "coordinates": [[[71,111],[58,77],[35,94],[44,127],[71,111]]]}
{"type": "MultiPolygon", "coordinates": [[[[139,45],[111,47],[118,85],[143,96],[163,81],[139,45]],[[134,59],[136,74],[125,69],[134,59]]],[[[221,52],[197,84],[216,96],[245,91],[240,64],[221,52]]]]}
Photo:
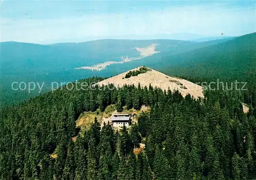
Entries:
{"type": "Polygon", "coordinates": [[[191,48],[183,53],[175,53],[179,51],[176,50],[170,55],[154,54],[140,61],[129,62],[126,67],[147,64],[148,67],[167,75],[183,77],[194,83],[217,82],[219,79],[230,87],[230,82],[236,80],[247,82],[249,91],[242,93],[245,94],[246,103],[250,104],[251,99],[256,98],[256,33],[216,41],[219,43],[210,46],[208,45],[211,41],[194,44],[198,49],[191,48]],[[201,47],[203,43],[207,46],[201,47]]]}

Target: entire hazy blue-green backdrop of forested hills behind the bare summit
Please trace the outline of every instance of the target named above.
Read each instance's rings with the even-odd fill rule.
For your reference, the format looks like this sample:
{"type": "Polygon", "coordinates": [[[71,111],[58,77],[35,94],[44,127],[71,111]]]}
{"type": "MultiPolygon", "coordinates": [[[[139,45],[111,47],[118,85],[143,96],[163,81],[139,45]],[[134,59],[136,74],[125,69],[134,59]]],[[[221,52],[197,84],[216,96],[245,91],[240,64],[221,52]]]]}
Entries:
{"type": "Polygon", "coordinates": [[[11,104],[35,96],[38,91],[13,91],[12,82],[45,82],[42,93],[51,82],[69,82],[91,76],[110,77],[146,65],[172,76],[202,79],[252,79],[255,77],[255,33],[204,42],[183,40],[117,40],[103,39],[81,43],[49,45],[2,42],[1,102],[11,104]],[[106,61],[120,61],[122,56],[138,57],[135,48],[158,44],[145,58],[122,64],[111,64],[106,70],[75,70],[106,61]]]}

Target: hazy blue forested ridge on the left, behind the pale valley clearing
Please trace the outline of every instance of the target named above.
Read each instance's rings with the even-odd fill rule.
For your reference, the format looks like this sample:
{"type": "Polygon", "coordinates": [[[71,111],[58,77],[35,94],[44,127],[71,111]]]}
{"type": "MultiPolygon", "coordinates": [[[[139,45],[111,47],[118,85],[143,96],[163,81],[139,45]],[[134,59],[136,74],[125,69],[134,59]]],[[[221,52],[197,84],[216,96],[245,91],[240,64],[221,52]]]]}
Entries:
{"type": "MultiPolygon", "coordinates": [[[[69,82],[91,76],[112,76],[118,72],[78,71],[80,66],[91,66],[106,61],[120,61],[121,57],[139,57],[135,48],[158,44],[156,51],[175,49],[196,42],[182,40],[116,40],[103,39],[81,43],[32,44],[1,42],[1,93],[2,102],[20,102],[36,94],[13,91],[12,82],[45,83],[42,92],[50,90],[51,82],[69,82]],[[19,94],[21,96],[19,96],[19,94]]],[[[38,92],[38,91],[37,91],[38,92]]]]}

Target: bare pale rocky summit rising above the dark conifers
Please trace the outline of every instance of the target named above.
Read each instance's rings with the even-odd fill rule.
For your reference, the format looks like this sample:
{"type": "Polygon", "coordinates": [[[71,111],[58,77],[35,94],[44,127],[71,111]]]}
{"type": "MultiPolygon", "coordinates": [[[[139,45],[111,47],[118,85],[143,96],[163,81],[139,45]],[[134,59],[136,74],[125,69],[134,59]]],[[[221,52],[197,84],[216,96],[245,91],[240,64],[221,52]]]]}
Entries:
{"type": "Polygon", "coordinates": [[[99,86],[102,86],[102,85],[108,85],[113,83],[116,87],[122,87],[125,84],[127,85],[134,84],[135,86],[137,86],[139,83],[141,87],[144,87],[144,86],[148,87],[151,84],[153,87],[160,87],[161,89],[163,90],[165,89],[166,91],[168,88],[172,91],[174,89],[177,89],[182,94],[183,97],[186,96],[187,94],[190,94],[195,98],[199,98],[199,97],[204,98],[202,86],[197,85],[193,82],[187,81],[185,79],[167,76],[163,73],[160,73],[150,68],[146,68],[148,69],[148,71],[144,73],[127,78],[127,74],[140,71],[141,68],[145,68],[145,67],[135,68],[133,70],[127,71],[125,73],[119,74],[109,79],[100,81],[97,84],[99,86]]]}

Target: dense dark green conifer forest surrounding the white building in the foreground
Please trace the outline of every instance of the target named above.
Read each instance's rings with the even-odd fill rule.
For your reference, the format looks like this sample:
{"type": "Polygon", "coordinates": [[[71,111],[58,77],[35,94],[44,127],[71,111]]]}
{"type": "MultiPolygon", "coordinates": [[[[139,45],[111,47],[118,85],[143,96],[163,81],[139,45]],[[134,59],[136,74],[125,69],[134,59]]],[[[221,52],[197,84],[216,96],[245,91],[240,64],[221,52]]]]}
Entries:
{"type": "Polygon", "coordinates": [[[256,178],[253,91],[206,91],[200,100],[152,86],[68,89],[1,110],[1,179],[256,178]],[[83,111],[104,111],[111,104],[118,111],[142,105],[151,111],[120,131],[110,124],[101,128],[97,119],[85,132],[76,127],[83,111]],[[135,154],[139,143],[145,149],[135,154]]]}

